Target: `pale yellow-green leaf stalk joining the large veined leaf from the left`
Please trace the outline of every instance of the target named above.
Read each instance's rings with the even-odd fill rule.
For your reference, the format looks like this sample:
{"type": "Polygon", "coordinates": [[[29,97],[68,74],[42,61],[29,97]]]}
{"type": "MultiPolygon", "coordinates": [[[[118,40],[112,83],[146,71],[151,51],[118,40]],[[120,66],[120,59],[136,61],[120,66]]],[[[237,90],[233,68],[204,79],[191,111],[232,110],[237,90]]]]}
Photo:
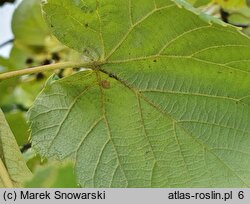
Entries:
{"type": "Polygon", "coordinates": [[[22,76],[22,75],[27,75],[27,74],[34,74],[34,73],[39,73],[39,72],[44,72],[44,71],[50,71],[50,70],[55,70],[55,69],[66,69],[66,68],[76,68],[76,67],[86,67],[89,68],[91,67],[93,62],[89,63],[83,63],[83,62],[62,62],[62,63],[56,63],[56,64],[49,64],[49,65],[43,65],[39,67],[33,67],[33,68],[26,68],[26,69],[21,69],[17,71],[11,71],[11,72],[6,72],[3,74],[0,74],[0,81],[5,80],[5,79],[10,79],[14,78],[17,76],[22,76]]]}

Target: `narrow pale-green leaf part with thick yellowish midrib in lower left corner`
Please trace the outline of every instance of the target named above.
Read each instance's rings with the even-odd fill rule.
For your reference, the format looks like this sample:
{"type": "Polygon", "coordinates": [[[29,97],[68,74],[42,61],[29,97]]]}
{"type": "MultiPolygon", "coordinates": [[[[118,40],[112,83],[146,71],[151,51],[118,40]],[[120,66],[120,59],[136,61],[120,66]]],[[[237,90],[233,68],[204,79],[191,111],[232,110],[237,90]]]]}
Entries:
{"type": "Polygon", "coordinates": [[[31,176],[0,110],[0,187],[19,187],[31,176]]]}

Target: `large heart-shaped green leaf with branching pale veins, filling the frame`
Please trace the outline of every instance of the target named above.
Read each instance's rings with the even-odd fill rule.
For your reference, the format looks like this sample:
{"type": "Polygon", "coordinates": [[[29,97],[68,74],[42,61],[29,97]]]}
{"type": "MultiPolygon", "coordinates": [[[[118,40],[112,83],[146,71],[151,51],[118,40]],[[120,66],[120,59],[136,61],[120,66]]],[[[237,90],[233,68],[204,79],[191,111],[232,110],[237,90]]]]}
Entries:
{"type": "Polygon", "coordinates": [[[95,61],[37,98],[33,145],[75,159],[82,186],[250,186],[250,40],[178,4],[45,4],[56,37],[95,61]]]}

